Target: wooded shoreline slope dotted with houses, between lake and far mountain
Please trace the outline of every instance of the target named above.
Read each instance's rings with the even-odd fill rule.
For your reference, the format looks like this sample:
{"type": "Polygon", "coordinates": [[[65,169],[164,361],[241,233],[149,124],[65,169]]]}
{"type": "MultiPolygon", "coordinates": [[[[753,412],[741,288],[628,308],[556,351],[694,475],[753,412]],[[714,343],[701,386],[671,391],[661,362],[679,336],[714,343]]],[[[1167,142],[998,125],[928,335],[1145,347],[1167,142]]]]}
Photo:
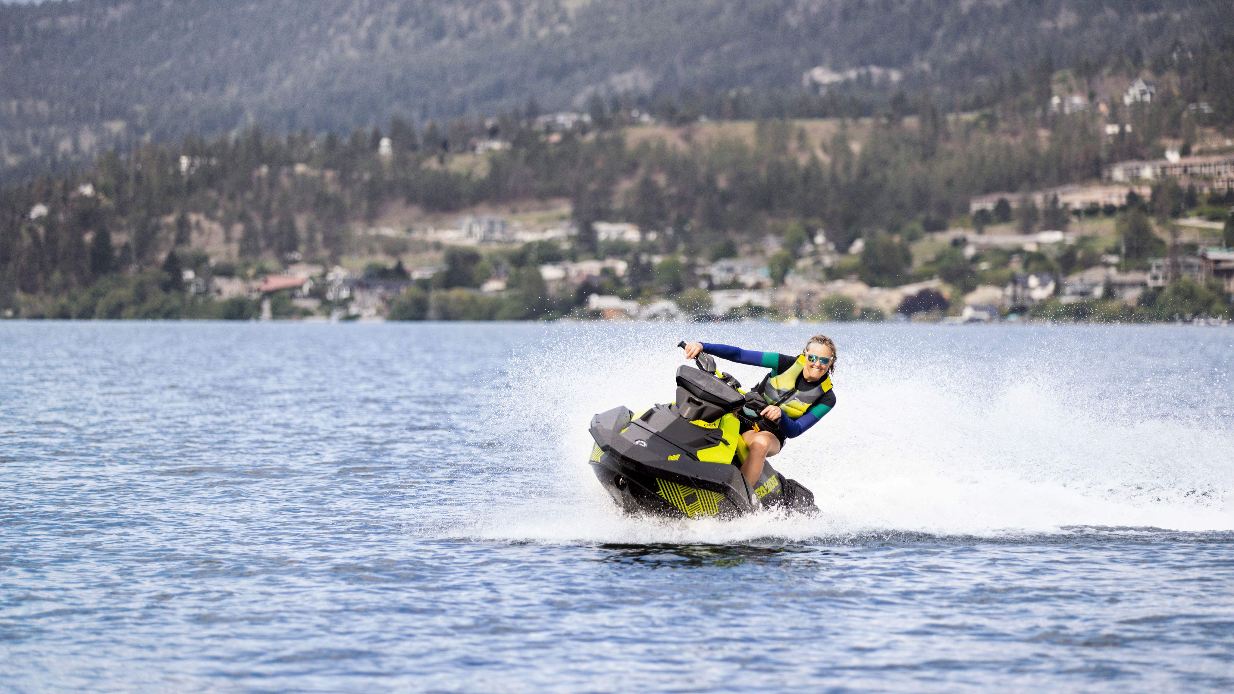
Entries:
{"type": "Polygon", "coordinates": [[[1053,85],[950,115],[613,99],[148,144],[5,189],[0,315],[1225,325],[1223,114],[1143,77],[1053,85]]]}

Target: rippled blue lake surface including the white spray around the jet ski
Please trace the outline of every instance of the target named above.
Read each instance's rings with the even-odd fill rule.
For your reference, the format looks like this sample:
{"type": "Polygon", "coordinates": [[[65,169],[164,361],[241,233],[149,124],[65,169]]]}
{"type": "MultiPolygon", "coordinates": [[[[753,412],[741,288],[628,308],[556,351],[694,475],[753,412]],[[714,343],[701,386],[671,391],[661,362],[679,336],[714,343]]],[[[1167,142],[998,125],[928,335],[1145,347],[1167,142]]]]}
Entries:
{"type": "Polygon", "coordinates": [[[0,322],[0,692],[1234,688],[1234,330],[0,322]],[[822,514],[622,516],[679,340],[822,514]],[[743,383],[759,369],[732,367],[743,383]]]}

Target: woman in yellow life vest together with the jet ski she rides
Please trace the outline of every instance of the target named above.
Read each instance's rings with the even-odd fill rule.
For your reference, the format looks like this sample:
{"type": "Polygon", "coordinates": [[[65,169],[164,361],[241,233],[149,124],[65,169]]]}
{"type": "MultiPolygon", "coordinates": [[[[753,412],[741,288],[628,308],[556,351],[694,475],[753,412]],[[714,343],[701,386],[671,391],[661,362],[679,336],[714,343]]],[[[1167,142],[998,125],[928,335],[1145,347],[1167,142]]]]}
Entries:
{"type": "Polygon", "coordinates": [[[698,368],[677,368],[676,400],[634,415],[615,408],[591,420],[591,467],[631,512],[732,517],[763,506],[816,512],[814,495],[770,464],[835,405],[835,345],[810,338],[797,357],[681,342],[698,368]],[[710,354],[770,369],[750,391],[716,370],[710,354]]]}

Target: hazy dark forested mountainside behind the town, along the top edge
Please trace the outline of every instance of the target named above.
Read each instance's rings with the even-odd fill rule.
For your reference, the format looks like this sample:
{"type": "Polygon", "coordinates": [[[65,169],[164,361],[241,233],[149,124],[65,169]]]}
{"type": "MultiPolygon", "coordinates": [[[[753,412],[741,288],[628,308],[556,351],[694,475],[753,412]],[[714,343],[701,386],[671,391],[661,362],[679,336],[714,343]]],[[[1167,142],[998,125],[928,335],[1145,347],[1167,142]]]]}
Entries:
{"type": "Polygon", "coordinates": [[[1230,26],[1171,0],[77,0],[0,6],[0,177],[146,138],[348,132],[661,98],[719,116],[869,115],[929,89],[944,111],[1060,68],[1138,72],[1230,26]],[[803,98],[802,75],[877,65],[803,98]],[[737,91],[731,91],[731,90],[737,91]],[[803,112],[808,111],[808,112],[803,112]]]}

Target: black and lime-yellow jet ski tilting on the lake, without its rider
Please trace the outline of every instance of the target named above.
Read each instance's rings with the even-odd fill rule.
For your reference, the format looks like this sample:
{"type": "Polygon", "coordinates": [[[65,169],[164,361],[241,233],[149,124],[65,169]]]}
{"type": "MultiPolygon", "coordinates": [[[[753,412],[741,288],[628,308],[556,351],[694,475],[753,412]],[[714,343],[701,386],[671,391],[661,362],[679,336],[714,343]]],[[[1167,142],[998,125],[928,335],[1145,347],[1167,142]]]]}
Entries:
{"type": "Polygon", "coordinates": [[[749,449],[739,433],[742,420],[774,426],[758,416],[766,405],[717,370],[710,354],[700,353],[695,364],[677,368],[673,403],[640,414],[618,406],[591,419],[589,462],[617,505],[631,514],[690,519],[731,519],[764,508],[817,512],[814,495],[770,461],[758,484],[745,482],[740,466],[749,449]]]}

